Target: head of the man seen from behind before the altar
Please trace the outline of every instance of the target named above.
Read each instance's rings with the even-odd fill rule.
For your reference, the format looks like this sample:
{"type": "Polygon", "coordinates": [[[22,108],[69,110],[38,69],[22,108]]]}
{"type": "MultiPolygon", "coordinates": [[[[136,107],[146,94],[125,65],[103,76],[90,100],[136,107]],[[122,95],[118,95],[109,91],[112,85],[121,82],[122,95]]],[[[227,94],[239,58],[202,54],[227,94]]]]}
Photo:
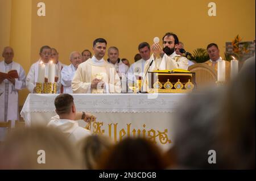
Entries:
{"type": "Polygon", "coordinates": [[[70,94],[60,94],[54,100],[57,115],[60,119],[75,120],[76,106],[73,96],[70,94]]]}

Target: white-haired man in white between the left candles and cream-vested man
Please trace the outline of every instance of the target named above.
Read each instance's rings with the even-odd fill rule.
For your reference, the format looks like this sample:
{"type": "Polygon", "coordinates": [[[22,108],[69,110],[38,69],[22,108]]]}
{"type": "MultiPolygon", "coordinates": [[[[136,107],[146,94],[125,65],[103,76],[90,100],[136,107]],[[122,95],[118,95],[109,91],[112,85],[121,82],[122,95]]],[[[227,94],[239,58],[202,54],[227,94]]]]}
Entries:
{"type": "Polygon", "coordinates": [[[76,69],[82,63],[82,56],[79,52],[72,52],[69,56],[71,64],[64,66],[61,70],[61,85],[63,85],[63,93],[72,94],[72,79],[75,75],[76,69]]]}

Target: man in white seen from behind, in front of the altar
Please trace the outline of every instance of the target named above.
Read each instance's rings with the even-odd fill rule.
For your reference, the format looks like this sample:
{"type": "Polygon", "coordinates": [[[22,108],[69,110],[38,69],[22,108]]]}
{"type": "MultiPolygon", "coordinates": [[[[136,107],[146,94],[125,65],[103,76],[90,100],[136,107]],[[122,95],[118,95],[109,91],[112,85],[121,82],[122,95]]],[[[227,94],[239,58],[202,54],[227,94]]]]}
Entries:
{"type": "MultiPolygon", "coordinates": [[[[76,106],[72,95],[60,94],[56,96],[54,104],[56,108],[55,111],[60,119],[52,119],[47,124],[47,127],[59,129],[73,143],[92,134],[88,129],[80,127],[76,121],[76,106]]],[[[85,113],[84,117],[86,117],[85,113]]],[[[82,117],[82,119],[84,119],[84,117],[82,117]]],[[[91,117],[91,115],[89,117],[91,117]]]]}

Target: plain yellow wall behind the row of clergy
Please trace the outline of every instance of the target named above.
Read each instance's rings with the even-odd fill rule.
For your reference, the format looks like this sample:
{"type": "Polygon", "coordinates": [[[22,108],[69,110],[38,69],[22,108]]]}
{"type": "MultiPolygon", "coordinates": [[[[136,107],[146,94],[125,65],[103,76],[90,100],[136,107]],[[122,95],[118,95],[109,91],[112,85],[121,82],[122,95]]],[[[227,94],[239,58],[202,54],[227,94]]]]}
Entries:
{"type": "MultiPolygon", "coordinates": [[[[10,7],[9,0],[0,2],[10,7]]],[[[0,46],[8,44],[8,38],[5,41],[2,38],[10,36],[15,60],[26,73],[38,60],[42,45],[55,47],[60,60],[69,64],[69,53],[91,50],[93,40],[104,37],[108,47],[117,46],[120,57],[133,62],[139,43],[152,44],[155,36],[162,38],[168,31],[175,32],[189,52],[214,42],[223,54],[225,42],[237,34],[244,41],[255,38],[255,0],[13,0],[11,3],[11,19],[9,10],[0,6],[0,13],[4,10],[7,14],[7,20],[0,17],[7,24],[6,31],[0,31],[0,46]],[[38,2],[46,3],[46,16],[37,15],[38,2]],[[216,3],[217,16],[208,16],[209,2],[216,3]]],[[[20,104],[24,99],[26,96],[22,95],[20,104]]]]}

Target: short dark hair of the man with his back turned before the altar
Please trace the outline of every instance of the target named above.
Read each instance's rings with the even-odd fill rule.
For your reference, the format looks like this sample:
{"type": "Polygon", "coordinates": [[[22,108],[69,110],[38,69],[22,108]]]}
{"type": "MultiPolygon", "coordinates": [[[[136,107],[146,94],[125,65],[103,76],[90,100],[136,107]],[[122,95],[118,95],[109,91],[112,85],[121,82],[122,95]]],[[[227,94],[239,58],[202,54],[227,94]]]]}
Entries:
{"type": "Polygon", "coordinates": [[[54,100],[56,113],[61,115],[63,113],[69,113],[71,111],[71,106],[74,103],[74,98],[70,94],[60,94],[56,96],[54,100]]]}

